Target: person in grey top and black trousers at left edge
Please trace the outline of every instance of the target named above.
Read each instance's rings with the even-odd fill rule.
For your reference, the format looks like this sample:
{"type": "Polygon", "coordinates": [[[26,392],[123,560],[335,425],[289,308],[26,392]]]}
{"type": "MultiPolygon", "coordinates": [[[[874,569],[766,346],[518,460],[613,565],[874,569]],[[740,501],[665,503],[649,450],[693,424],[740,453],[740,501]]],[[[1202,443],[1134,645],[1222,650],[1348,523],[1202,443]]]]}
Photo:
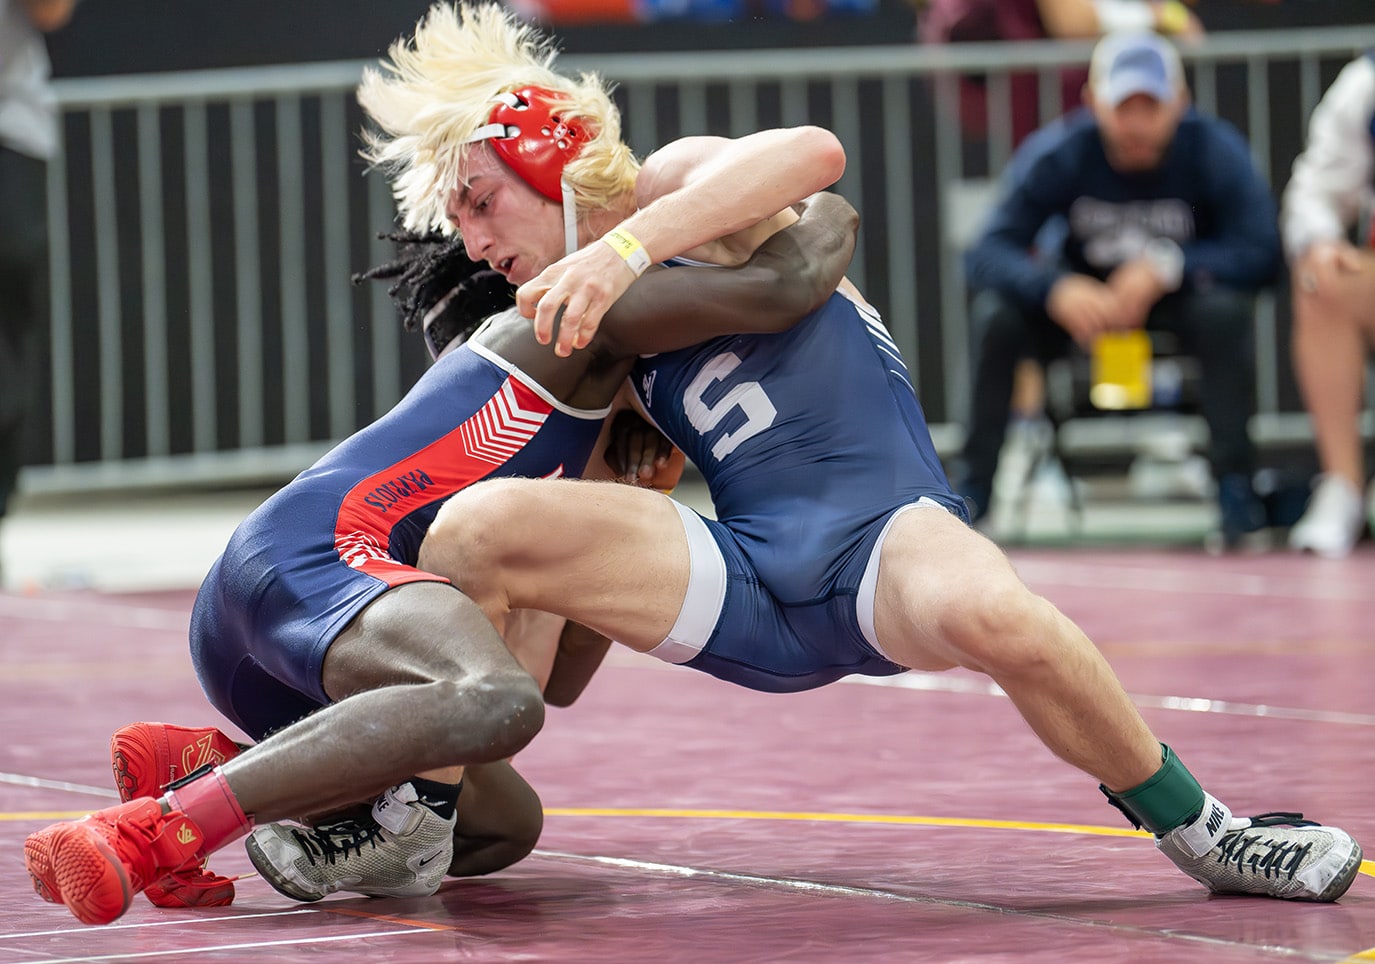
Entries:
{"type": "Polygon", "coordinates": [[[23,422],[47,314],[47,161],[58,109],[43,32],[76,0],[0,0],[0,516],[23,462],[23,422]]]}

